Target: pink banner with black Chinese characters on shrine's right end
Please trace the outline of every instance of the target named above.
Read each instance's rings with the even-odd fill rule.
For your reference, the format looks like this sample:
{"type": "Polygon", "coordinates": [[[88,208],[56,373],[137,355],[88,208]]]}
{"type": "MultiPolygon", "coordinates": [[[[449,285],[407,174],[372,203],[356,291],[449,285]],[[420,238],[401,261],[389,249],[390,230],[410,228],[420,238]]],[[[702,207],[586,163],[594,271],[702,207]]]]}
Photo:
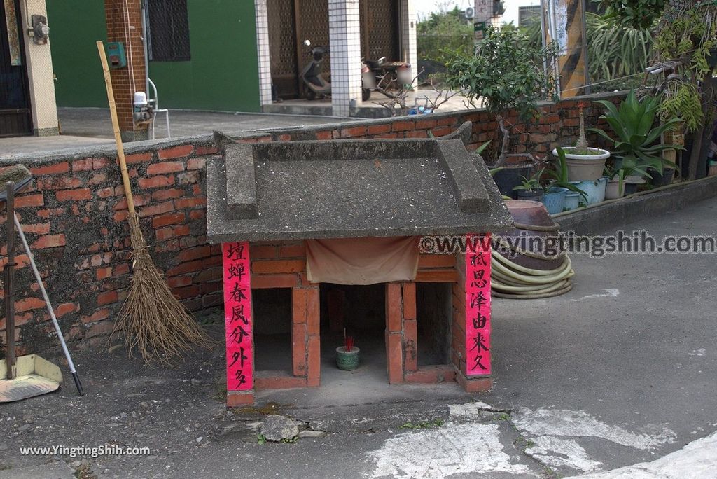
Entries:
{"type": "Polygon", "coordinates": [[[490,234],[466,238],[466,375],[490,374],[490,234]]]}

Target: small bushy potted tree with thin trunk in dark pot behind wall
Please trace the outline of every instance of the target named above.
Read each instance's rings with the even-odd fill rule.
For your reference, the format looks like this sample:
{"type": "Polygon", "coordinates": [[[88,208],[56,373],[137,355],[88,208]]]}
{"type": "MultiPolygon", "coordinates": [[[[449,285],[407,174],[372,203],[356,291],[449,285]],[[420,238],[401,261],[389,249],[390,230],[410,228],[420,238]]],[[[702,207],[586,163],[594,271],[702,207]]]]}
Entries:
{"type": "Polygon", "coordinates": [[[505,117],[509,110],[516,110],[521,121],[538,118],[538,100],[554,93],[554,69],[546,68],[543,61],[552,65],[556,47],[531,44],[518,29],[488,27],[475,54],[455,52],[447,59],[448,86],[460,90],[473,106],[482,102],[483,108],[495,115],[502,143],[495,161],[488,158],[486,163],[503,167],[493,179],[501,193],[513,196],[519,179],[530,175],[535,161],[529,153],[517,164],[506,161],[511,137],[505,117]]]}

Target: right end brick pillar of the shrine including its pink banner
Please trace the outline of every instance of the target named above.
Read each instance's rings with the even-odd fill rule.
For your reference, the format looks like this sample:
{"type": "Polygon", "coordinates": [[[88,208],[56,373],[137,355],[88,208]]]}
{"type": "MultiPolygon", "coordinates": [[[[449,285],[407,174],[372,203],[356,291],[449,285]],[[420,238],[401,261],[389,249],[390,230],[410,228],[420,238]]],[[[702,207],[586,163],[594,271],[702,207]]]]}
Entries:
{"type": "Polygon", "coordinates": [[[467,392],[487,391],[491,379],[490,234],[470,236],[458,261],[453,288],[452,361],[457,380],[467,392]]]}

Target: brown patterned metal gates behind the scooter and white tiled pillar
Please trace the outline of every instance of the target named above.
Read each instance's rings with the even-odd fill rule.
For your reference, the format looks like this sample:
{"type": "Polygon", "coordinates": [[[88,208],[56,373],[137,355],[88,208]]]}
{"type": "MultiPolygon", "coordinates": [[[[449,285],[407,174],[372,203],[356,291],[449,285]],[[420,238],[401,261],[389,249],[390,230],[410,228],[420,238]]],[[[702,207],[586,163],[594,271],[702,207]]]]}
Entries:
{"type": "MultiPolygon", "coordinates": [[[[398,3],[360,0],[362,57],[401,60],[398,3]]],[[[313,45],[329,44],[328,0],[267,0],[267,17],[272,83],[280,97],[296,98],[303,90],[299,74],[310,60],[304,40],[313,45]]],[[[328,55],[323,65],[328,72],[328,55]]]]}

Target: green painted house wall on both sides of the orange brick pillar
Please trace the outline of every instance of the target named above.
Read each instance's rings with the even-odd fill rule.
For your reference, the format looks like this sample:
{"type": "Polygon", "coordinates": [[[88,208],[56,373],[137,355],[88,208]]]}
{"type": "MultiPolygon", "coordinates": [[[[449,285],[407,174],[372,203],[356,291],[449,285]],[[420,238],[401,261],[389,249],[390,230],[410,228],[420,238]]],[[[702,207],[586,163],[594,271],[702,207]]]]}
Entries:
{"type": "MultiPolygon", "coordinates": [[[[161,108],[260,111],[254,2],[188,0],[191,60],[150,62],[161,108]]],[[[47,0],[58,106],[107,106],[100,0],[47,0]]]]}

